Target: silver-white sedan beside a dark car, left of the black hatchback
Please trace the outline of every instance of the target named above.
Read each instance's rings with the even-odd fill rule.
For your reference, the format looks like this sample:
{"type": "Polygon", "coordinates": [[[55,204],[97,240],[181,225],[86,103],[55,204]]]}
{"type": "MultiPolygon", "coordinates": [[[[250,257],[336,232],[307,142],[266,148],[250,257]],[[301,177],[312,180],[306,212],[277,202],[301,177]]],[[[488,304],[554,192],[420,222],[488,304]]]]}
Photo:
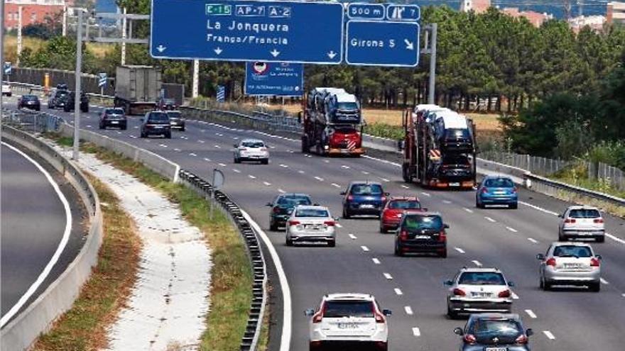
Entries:
{"type": "Polygon", "coordinates": [[[286,245],[295,242],[337,243],[336,220],[325,206],[296,206],[286,221],[286,245]]]}

